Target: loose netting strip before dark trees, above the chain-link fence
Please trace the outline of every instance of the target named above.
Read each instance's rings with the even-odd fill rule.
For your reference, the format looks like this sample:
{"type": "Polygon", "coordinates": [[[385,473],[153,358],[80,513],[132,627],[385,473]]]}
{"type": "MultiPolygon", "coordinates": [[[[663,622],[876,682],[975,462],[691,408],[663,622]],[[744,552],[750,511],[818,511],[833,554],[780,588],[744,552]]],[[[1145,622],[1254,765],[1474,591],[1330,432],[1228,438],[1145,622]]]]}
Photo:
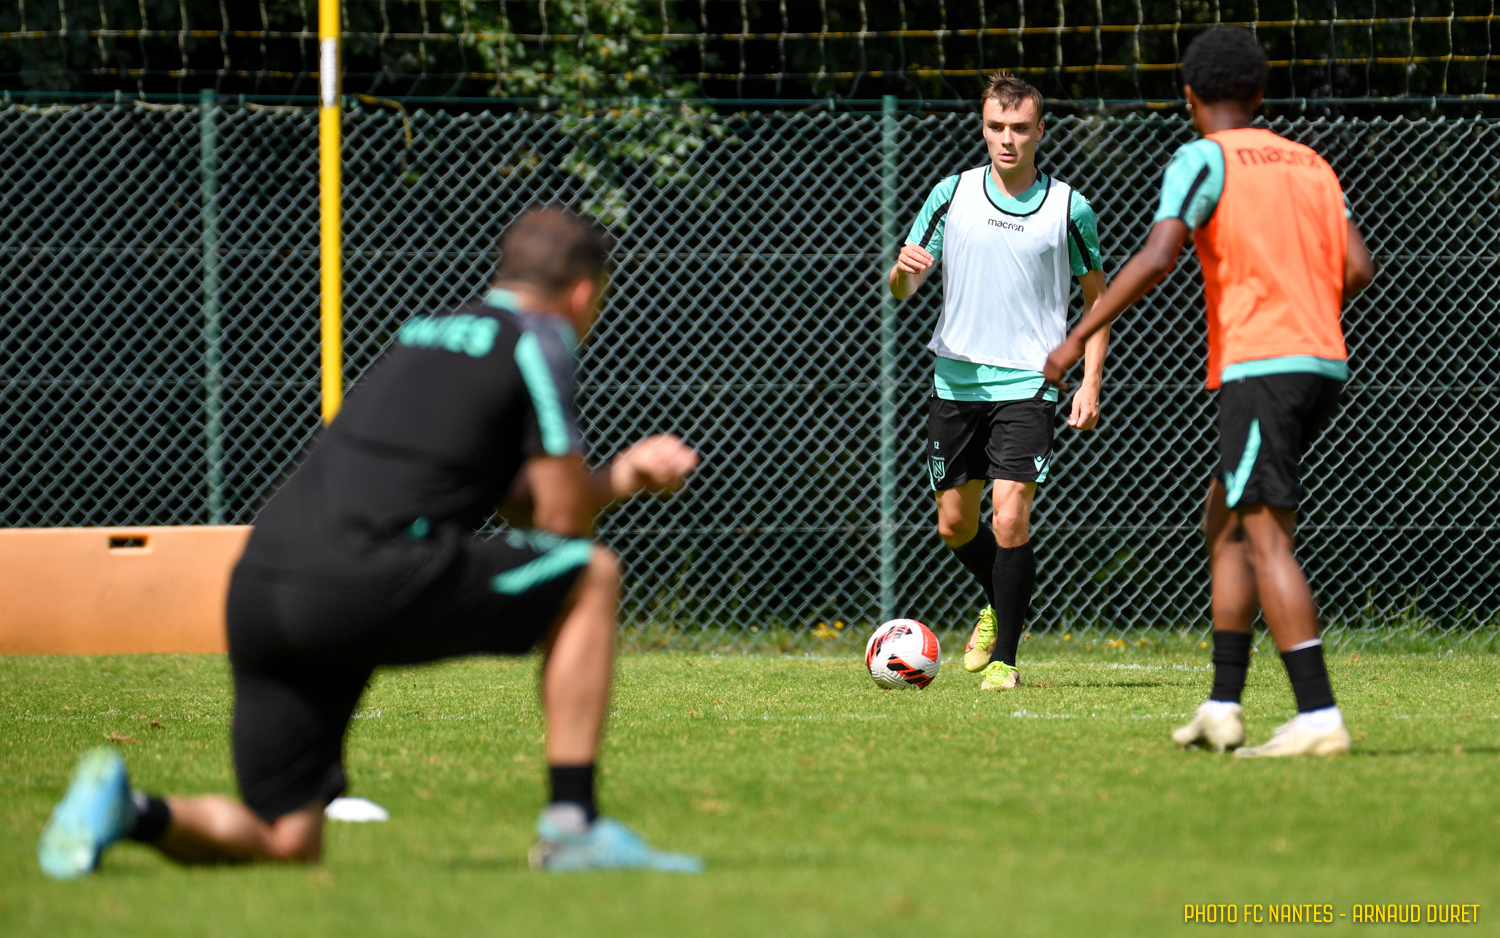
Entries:
{"type": "MultiPolygon", "coordinates": [[[[900,95],[968,102],[1011,69],[1048,98],[1180,102],[1215,24],[1252,29],[1269,98],[1496,102],[1485,0],[378,0],[342,5],[344,87],[394,96],[900,95]]],[[[312,95],[318,5],[0,0],[0,89],[312,95]]]]}

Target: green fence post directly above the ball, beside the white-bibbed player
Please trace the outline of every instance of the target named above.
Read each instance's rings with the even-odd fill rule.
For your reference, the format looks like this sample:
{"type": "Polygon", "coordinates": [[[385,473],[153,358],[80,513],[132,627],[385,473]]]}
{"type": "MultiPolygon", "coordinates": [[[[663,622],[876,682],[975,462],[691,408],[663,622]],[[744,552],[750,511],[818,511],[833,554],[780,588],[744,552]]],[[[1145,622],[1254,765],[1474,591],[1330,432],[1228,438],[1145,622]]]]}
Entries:
{"type": "Polygon", "coordinates": [[[896,96],[880,98],[880,620],[896,618],[896,297],[885,272],[896,263],[896,96]]]}

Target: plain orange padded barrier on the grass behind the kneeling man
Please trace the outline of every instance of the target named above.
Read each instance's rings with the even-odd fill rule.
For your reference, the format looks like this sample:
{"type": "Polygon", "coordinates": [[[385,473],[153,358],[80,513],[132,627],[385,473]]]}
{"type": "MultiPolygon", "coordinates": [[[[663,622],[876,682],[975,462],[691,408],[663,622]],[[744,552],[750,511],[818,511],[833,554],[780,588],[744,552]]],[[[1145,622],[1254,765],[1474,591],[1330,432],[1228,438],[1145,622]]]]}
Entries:
{"type": "Polygon", "coordinates": [[[250,528],[0,530],[0,654],[225,651],[250,528]]]}

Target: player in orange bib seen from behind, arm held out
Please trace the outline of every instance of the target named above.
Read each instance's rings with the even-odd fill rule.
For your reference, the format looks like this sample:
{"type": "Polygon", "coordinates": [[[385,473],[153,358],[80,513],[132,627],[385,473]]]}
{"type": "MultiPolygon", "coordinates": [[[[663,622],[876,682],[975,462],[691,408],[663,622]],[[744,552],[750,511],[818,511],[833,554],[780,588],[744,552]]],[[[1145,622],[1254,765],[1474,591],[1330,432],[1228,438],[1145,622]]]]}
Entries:
{"type": "Polygon", "coordinates": [[[1269,66],[1238,27],[1198,36],[1184,93],[1203,134],[1173,155],[1146,246],[1047,359],[1060,381],[1094,330],[1143,297],[1192,234],[1208,300],[1208,386],[1218,389],[1220,459],[1203,530],[1214,593],[1214,689],[1180,746],[1245,740],[1240,692],[1258,609],[1281,650],[1298,716],[1242,756],[1334,755],[1350,735],[1334,701],[1317,611],[1292,554],[1299,462],[1348,378],[1340,308],[1374,278],[1334,170],[1311,149],[1252,128],[1269,66]]]}

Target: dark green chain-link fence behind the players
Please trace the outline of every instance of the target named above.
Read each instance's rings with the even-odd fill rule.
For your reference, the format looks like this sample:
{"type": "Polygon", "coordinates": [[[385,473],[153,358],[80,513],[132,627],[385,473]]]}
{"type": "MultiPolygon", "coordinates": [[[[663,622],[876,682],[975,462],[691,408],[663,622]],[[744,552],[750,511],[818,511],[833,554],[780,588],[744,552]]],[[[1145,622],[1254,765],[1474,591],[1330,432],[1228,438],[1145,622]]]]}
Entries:
{"type": "MultiPolygon", "coordinates": [[[[590,161],[614,161],[628,219],[584,353],[586,432],[600,456],[674,431],[705,458],[681,497],[603,522],[638,644],[820,647],[890,615],[966,627],[978,591],[922,465],[940,288],[894,306],[882,288],[892,231],[982,161],[976,120],[717,122],[692,183],[658,188],[651,128],[626,117],[350,113],[348,375],[408,317],[472,296],[507,218],[588,201],[590,161]]],[[[315,125],[231,102],[0,110],[0,524],[254,521],[318,426],[315,125]]],[[[1380,264],[1344,318],[1344,410],[1306,462],[1299,554],[1322,611],[1491,644],[1500,123],[1274,129],[1329,158],[1380,264]]],[[[1048,126],[1041,162],[1094,203],[1106,270],[1191,138],[1174,119],[1048,126]]],[[[1059,431],[1035,629],[1206,627],[1197,284],[1188,258],[1126,314],[1101,428],[1059,431]]]]}

